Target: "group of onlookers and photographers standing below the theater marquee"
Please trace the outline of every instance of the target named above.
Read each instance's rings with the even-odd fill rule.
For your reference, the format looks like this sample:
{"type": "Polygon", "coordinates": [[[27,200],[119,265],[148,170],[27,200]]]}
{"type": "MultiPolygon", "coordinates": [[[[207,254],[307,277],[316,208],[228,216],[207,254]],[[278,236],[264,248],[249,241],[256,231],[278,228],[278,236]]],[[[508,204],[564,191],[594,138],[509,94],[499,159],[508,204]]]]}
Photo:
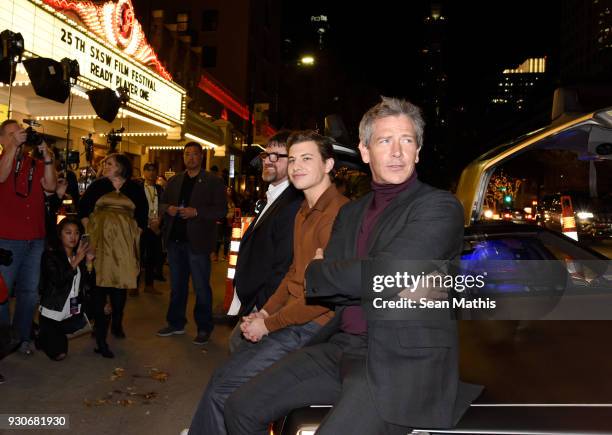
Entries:
{"type": "Polygon", "coordinates": [[[178,333],[186,321],[191,275],[197,299],[194,343],[208,340],[217,223],[233,216],[222,180],[203,169],[199,144],[186,144],[187,169],[165,188],[155,164],[145,164],[138,180],[130,158],[112,153],[82,194],[74,173],[59,171],[58,153],[44,141],[28,144],[17,121],[0,124],[0,145],[0,249],[11,258],[0,264],[0,357],[12,350],[30,356],[38,348],[62,360],[66,336],[93,324],[94,351],[113,358],[109,325],[114,337],[126,337],[127,295],[138,295],[139,281],[144,292],[160,293],[154,281],[165,280],[166,252],[172,283],[168,324],[178,333]],[[66,214],[66,198],[73,213],[57,222],[60,210],[66,214]]]}

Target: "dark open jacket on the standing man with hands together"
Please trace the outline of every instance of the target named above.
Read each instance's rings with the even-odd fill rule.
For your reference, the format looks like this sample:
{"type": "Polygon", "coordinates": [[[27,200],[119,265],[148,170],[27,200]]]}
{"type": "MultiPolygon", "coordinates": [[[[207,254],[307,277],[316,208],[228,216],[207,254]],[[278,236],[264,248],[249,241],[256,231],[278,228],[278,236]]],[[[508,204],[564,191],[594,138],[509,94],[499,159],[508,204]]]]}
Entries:
{"type": "MultiPolygon", "coordinates": [[[[160,207],[163,212],[162,235],[166,246],[168,246],[174,220],[181,219],[178,215],[170,216],[166,213],[166,210],[170,205],[179,205],[181,186],[185,174],[186,172],[181,172],[170,178],[166,190],[162,194],[160,207]]],[[[193,186],[187,206],[198,211],[195,218],[187,220],[189,246],[196,254],[210,254],[217,240],[217,220],[227,214],[227,200],[223,181],[202,169],[195,186],[193,186]]]]}

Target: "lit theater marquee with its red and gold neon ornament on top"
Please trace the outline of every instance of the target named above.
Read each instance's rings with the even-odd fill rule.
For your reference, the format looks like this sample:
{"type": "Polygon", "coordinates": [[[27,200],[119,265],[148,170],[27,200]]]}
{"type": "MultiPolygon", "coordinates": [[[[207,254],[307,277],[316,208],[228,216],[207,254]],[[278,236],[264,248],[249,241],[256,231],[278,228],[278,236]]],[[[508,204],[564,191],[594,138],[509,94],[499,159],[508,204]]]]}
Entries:
{"type": "Polygon", "coordinates": [[[145,66],[148,63],[155,67],[155,53],[139,36],[142,29],[134,20],[128,0],[102,5],[89,1],[2,0],[2,28],[23,35],[26,55],[75,59],[80,65],[77,83],[81,88],[125,87],[130,93],[129,107],[165,125],[183,124],[185,90],[166,80],[169,75],[163,74],[165,70],[158,69],[158,74],[145,66]],[[86,11],[94,13],[92,7],[100,12],[96,15],[98,24],[86,18],[86,11]],[[67,17],[65,13],[69,12],[76,14],[89,30],[67,17]],[[106,32],[111,30],[115,39],[107,38],[106,32]]]}

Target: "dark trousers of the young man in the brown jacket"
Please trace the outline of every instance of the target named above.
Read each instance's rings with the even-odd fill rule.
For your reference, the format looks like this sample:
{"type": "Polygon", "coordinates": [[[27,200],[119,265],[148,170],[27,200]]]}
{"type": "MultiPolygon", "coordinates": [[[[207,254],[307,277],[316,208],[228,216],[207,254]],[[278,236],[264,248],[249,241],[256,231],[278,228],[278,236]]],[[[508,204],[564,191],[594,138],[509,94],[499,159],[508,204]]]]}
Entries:
{"type": "Polygon", "coordinates": [[[320,328],[317,323],[310,322],[272,332],[259,343],[243,342],[230,360],[213,373],[189,434],[226,434],[223,408],[230,394],[288,353],[304,346],[320,328]]]}

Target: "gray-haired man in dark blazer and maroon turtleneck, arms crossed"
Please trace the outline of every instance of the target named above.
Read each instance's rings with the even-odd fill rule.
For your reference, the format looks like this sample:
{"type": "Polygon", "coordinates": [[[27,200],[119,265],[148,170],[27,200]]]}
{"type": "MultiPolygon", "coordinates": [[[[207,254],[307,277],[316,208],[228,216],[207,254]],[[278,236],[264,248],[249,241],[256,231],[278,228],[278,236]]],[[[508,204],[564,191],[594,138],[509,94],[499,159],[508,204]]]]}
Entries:
{"type": "Polygon", "coordinates": [[[451,427],[480,393],[459,381],[450,316],[374,319],[360,304],[369,296],[362,293],[363,260],[430,263],[461,252],[461,205],[416,176],[424,124],[418,107],[394,98],[383,97],[364,115],[359,150],[372,171],[372,192],[340,210],[325,254],[318,252],[306,271],[307,298],[335,306],[336,315],[317,344],[230,396],[230,434],[265,434],[268,422],[317,404],[334,405],[320,435],[451,427]]]}

